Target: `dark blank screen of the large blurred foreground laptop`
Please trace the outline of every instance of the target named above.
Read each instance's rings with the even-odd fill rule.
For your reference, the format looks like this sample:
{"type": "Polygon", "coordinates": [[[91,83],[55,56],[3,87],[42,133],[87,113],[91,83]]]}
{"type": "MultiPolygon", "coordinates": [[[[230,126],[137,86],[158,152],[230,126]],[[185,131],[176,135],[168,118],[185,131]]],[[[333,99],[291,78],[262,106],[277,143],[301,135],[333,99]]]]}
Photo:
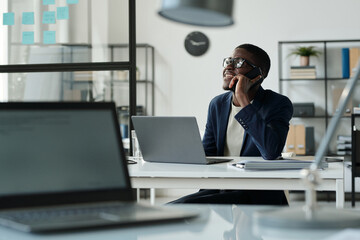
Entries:
{"type": "Polygon", "coordinates": [[[0,106],[0,197],[129,188],[111,108],[18,105],[0,106]]]}

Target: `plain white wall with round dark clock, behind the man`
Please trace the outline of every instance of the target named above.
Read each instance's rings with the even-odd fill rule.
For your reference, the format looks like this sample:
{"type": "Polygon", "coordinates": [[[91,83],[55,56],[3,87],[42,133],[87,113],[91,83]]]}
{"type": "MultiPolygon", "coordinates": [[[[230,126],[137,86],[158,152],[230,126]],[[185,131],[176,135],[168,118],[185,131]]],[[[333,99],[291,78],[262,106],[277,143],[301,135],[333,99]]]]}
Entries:
{"type": "MultiPolygon", "coordinates": [[[[219,0],[220,1],[220,0],[219,0]]],[[[242,43],[268,52],[272,68],[263,87],[278,91],[278,41],[360,39],[358,0],[234,1],[235,24],[197,27],[160,17],[161,0],[137,0],[137,42],[156,50],[156,115],[193,115],[205,127],[209,101],[222,90],[222,59],[242,43]],[[201,57],[184,49],[192,31],[208,35],[211,46],[201,57]]]]}

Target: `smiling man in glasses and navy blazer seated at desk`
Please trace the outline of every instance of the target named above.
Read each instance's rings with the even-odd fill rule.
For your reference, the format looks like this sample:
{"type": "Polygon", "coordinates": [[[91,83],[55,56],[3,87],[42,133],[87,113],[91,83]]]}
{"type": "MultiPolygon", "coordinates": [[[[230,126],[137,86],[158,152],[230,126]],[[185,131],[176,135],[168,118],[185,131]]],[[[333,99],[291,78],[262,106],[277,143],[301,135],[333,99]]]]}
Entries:
{"type": "MultiPolygon", "coordinates": [[[[293,107],[287,97],[261,87],[270,70],[268,54],[243,44],[223,66],[223,89],[230,91],[210,102],[203,138],[206,155],[276,159],[285,145],[293,107]]],[[[288,204],[283,191],[265,190],[200,190],[172,203],[288,204]]]]}

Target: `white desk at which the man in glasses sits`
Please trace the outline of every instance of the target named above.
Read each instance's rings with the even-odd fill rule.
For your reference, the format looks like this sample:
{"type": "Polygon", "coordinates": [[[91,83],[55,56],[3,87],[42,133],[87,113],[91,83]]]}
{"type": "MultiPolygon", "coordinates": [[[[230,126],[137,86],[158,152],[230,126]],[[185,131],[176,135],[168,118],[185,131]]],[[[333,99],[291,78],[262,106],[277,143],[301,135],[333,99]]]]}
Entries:
{"type": "MultiPolygon", "coordinates": [[[[232,162],[241,159],[259,158],[237,157],[232,162]]],[[[319,172],[322,183],[317,190],[335,191],[336,207],[343,208],[343,163],[329,163],[328,169],[319,172]]],[[[305,190],[298,170],[245,171],[231,167],[229,163],[197,165],[148,163],[141,160],[129,165],[129,173],[134,188],[305,190]]]]}

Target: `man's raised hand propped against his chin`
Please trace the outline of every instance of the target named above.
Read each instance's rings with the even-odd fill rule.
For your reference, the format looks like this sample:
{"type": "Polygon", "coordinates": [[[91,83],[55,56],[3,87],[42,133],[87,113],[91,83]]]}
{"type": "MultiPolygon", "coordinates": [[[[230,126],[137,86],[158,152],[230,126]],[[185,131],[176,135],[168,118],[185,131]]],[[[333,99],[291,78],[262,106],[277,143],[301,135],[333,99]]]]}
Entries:
{"type": "Polygon", "coordinates": [[[246,107],[250,104],[255,95],[255,92],[251,89],[251,86],[260,79],[261,75],[254,79],[249,79],[242,74],[237,74],[231,79],[229,88],[232,88],[233,85],[236,84],[233,97],[233,103],[235,106],[246,107]]]}

